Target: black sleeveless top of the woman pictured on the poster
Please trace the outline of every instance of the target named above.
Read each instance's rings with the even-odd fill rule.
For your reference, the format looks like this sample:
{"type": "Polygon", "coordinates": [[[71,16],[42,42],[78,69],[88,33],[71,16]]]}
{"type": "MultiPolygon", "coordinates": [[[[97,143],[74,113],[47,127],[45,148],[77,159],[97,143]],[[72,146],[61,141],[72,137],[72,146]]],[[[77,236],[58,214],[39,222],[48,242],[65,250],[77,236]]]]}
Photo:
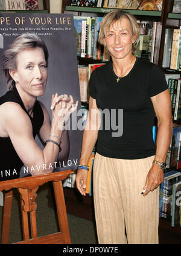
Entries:
{"type": "MultiPolygon", "coordinates": [[[[33,137],[35,138],[39,133],[44,120],[43,110],[39,102],[36,100],[34,104],[33,117],[28,114],[16,87],[14,87],[12,91],[8,91],[0,98],[0,105],[5,102],[15,102],[21,105],[22,109],[25,111],[28,117],[30,117],[33,128],[33,137]]],[[[24,163],[17,155],[13,144],[11,143],[10,137],[0,137],[0,156],[0,181],[19,178],[21,167],[24,165],[24,163]]]]}

